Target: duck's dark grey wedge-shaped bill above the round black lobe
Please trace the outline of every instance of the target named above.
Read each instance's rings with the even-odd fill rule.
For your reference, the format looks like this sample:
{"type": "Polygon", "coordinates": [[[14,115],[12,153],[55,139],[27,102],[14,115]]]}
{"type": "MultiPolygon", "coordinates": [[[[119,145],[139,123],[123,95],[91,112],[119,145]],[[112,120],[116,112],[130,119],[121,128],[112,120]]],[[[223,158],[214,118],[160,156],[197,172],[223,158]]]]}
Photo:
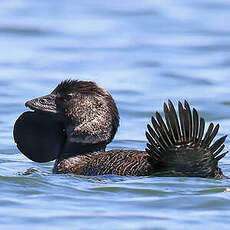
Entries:
{"type": "Polygon", "coordinates": [[[55,94],[49,94],[43,97],[38,97],[27,101],[25,103],[25,106],[35,111],[57,114],[58,111],[57,111],[55,99],[56,99],[55,94]]]}

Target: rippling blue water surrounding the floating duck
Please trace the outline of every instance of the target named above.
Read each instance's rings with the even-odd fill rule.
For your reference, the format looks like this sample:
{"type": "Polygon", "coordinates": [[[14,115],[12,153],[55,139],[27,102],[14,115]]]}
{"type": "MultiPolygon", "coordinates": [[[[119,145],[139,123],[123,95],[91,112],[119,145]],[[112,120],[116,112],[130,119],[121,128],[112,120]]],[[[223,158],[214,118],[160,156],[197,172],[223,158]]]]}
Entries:
{"type": "Polygon", "coordinates": [[[108,149],[144,149],[168,98],[228,134],[229,10],[228,0],[1,0],[0,229],[229,229],[228,179],[53,175],[53,162],[29,161],[12,139],[24,102],[69,77],[116,100],[108,149]]]}

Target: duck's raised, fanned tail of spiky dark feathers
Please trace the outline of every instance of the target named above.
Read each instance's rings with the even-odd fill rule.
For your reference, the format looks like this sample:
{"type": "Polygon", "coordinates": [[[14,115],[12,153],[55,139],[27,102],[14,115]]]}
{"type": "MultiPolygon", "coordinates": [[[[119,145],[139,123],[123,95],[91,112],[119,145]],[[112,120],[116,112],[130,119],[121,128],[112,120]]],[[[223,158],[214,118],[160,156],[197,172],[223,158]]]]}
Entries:
{"type": "Polygon", "coordinates": [[[211,123],[204,135],[205,120],[199,118],[196,109],[190,110],[187,101],[184,106],[178,102],[177,115],[172,102],[164,103],[163,121],[156,112],[152,125],[147,125],[148,139],[146,151],[152,158],[154,167],[160,166],[165,172],[182,176],[222,178],[224,175],[218,167],[218,161],[227,152],[223,144],[227,135],[213,144],[219,124],[211,123]]]}

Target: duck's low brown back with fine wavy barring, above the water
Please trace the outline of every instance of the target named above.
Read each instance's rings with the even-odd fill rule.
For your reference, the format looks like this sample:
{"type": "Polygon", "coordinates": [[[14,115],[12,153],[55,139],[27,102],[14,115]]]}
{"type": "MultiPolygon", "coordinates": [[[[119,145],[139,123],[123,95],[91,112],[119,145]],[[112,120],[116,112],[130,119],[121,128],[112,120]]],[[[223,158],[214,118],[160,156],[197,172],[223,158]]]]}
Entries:
{"type": "Polygon", "coordinates": [[[110,150],[63,159],[57,164],[57,171],[78,175],[146,176],[153,173],[153,167],[145,151],[110,150]]]}

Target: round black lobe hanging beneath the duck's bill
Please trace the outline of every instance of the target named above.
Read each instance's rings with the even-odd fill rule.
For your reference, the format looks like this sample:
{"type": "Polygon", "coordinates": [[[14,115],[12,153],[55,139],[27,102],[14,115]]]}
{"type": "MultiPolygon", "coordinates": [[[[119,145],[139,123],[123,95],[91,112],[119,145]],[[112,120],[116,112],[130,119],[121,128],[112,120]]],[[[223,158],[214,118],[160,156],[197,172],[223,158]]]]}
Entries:
{"type": "Polygon", "coordinates": [[[13,135],[18,149],[35,162],[55,160],[65,141],[61,124],[51,116],[32,111],[17,119],[13,135]]]}

